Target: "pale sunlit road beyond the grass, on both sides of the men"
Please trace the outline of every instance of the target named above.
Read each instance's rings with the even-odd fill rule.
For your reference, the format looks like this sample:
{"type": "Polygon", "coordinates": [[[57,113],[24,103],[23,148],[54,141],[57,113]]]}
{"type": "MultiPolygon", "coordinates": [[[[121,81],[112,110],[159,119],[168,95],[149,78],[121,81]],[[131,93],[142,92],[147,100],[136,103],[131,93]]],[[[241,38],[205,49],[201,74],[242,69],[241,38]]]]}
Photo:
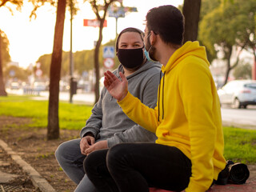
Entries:
{"type": "MultiPolygon", "coordinates": [[[[10,94],[23,94],[22,90],[6,90],[10,94]]],[[[41,97],[34,96],[33,99],[47,100],[49,98],[48,91],[42,91],[41,97]]],[[[88,105],[94,104],[94,93],[85,93],[78,90],[73,96],[74,103],[84,103],[88,105]]],[[[68,92],[60,92],[60,101],[70,101],[68,92]]],[[[231,109],[229,106],[222,106],[222,123],[223,126],[235,126],[246,129],[256,130],[256,106],[248,106],[248,109],[231,109]]]]}

